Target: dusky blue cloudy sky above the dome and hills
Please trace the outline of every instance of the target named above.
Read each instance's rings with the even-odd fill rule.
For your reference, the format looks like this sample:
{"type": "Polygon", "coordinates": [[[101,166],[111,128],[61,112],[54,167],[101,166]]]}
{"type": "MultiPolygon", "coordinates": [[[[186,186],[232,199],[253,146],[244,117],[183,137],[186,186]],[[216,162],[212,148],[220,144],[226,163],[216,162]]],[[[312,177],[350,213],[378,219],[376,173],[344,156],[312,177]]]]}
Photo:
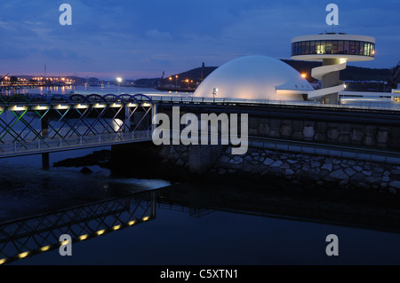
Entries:
{"type": "Polygon", "coordinates": [[[291,39],[332,31],[327,4],[338,4],[334,31],[376,37],[372,62],[400,60],[399,0],[12,0],[0,4],[0,74],[159,77],[220,66],[244,55],[289,59],[291,39]],[[72,26],[60,26],[60,4],[72,26]]]}

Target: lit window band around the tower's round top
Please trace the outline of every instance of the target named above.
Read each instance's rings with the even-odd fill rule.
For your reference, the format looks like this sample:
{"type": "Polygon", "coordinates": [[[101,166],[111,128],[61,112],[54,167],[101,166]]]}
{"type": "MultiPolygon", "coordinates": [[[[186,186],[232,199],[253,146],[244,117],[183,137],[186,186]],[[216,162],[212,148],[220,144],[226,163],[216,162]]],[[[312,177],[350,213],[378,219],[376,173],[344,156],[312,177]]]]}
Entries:
{"type": "Polygon", "coordinates": [[[375,56],[375,43],[350,40],[315,40],[292,43],[292,56],[345,54],[375,56]]]}

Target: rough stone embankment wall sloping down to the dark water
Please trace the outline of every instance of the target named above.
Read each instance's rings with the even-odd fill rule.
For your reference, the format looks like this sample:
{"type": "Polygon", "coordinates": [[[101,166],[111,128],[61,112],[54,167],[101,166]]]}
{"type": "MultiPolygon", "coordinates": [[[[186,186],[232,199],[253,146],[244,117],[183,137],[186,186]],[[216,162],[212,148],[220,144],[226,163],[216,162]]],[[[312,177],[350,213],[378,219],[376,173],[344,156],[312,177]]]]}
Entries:
{"type": "Polygon", "coordinates": [[[389,193],[400,189],[400,167],[380,162],[262,148],[249,148],[246,154],[238,156],[230,154],[228,146],[164,145],[156,150],[164,161],[200,174],[266,180],[268,177],[279,177],[298,184],[307,181],[316,185],[339,185],[389,193]]]}

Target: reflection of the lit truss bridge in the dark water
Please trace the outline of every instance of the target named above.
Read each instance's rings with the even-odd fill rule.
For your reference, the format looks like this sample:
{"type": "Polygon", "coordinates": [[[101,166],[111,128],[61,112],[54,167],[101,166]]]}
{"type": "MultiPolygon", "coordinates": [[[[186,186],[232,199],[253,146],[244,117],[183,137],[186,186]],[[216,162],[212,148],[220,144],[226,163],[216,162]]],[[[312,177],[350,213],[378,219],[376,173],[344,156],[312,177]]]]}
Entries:
{"type": "Polygon", "coordinates": [[[143,224],[156,218],[156,192],[102,200],[0,224],[0,265],[48,252],[72,243],[143,224]]]}

